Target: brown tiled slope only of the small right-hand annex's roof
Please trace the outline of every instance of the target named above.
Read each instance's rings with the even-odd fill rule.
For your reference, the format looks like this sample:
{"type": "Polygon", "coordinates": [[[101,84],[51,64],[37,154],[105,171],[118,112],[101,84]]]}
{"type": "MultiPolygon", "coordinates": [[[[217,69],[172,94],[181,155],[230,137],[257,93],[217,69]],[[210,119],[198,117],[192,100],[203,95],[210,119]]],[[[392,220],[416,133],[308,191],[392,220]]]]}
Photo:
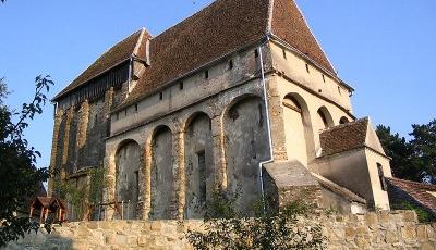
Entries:
{"type": "Polygon", "coordinates": [[[323,155],[331,155],[365,146],[370,120],[367,117],[341,124],[319,135],[323,155]]]}

